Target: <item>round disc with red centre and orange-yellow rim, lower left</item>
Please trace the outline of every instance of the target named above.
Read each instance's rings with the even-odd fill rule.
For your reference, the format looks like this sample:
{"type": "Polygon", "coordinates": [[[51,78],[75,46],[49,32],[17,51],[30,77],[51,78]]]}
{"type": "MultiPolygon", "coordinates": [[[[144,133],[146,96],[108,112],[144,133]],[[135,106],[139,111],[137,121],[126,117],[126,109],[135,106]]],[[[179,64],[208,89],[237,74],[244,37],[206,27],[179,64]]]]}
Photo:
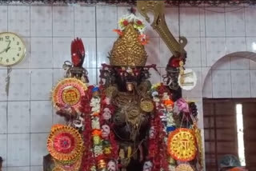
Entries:
{"type": "Polygon", "coordinates": [[[47,149],[54,159],[69,163],[81,156],[83,141],[77,129],[67,125],[54,125],[47,141],[47,149]]]}

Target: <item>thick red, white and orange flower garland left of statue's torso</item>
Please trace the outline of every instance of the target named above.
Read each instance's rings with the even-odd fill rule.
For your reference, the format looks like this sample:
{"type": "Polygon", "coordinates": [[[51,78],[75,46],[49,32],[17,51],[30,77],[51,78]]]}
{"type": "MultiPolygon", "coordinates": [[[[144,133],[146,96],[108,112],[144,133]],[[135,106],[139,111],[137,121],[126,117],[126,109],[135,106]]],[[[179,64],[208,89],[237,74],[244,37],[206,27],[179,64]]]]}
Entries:
{"type": "Polygon", "coordinates": [[[101,87],[90,86],[82,97],[81,111],[85,114],[83,137],[86,152],[82,157],[82,171],[104,170],[107,162],[118,160],[118,145],[111,131],[114,106],[101,87]]]}

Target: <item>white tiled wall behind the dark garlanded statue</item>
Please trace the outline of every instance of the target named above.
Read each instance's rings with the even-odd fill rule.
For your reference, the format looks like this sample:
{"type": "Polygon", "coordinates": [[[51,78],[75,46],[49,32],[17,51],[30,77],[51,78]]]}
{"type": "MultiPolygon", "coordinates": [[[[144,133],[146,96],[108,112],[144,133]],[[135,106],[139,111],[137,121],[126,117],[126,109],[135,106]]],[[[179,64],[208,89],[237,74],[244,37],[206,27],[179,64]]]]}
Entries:
{"type": "MultiPolygon", "coordinates": [[[[0,156],[7,171],[42,171],[42,156],[50,125],[62,122],[54,114],[50,90],[63,78],[62,64],[70,60],[70,42],[80,37],[86,46],[84,66],[90,83],[97,84],[98,69],[108,62],[108,52],[117,35],[118,18],[126,6],[0,6],[0,32],[12,31],[24,38],[26,58],[10,72],[6,94],[7,70],[0,67],[0,156]]],[[[198,75],[198,84],[184,97],[256,97],[256,62],[238,51],[256,52],[256,8],[166,9],[166,22],[177,38],[186,36],[186,68],[198,75]],[[180,29],[179,29],[180,28],[180,29]]],[[[162,39],[146,24],[150,44],[148,64],[155,63],[161,75],[171,54],[162,39]]],[[[152,82],[162,80],[154,70],[152,82]]],[[[199,125],[203,126],[202,113],[199,125]]]]}

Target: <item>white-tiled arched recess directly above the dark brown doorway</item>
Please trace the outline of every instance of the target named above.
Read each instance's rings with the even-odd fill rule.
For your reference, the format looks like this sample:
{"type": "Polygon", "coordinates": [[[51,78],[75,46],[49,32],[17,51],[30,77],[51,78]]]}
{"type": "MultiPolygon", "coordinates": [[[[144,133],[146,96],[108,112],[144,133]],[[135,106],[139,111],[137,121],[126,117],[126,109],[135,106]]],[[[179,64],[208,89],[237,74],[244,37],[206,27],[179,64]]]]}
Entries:
{"type": "Polygon", "coordinates": [[[256,97],[256,53],[227,54],[205,75],[203,97],[256,97]]]}

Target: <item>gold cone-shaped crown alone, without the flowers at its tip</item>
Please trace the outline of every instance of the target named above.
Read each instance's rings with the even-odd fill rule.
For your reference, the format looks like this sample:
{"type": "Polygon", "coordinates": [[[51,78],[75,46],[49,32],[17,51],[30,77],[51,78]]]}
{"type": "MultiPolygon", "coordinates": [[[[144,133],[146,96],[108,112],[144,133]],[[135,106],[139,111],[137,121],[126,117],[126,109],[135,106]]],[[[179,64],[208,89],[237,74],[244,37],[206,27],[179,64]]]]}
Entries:
{"type": "Polygon", "coordinates": [[[110,52],[111,66],[145,66],[146,50],[138,41],[138,36],[132,24],[126,26],[110,52]]]}

